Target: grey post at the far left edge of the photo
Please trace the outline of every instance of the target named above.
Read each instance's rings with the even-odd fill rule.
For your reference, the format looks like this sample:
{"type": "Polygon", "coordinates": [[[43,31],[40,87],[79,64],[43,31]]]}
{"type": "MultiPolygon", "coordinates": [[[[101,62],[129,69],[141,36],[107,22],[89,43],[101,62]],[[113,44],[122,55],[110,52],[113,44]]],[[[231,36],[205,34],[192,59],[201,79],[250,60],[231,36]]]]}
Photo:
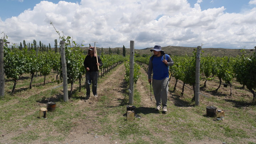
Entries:
{"type": "Polygon", "coordinates": [[[0,96],[4,96],[4,39],[0,39],[0,96]]]}

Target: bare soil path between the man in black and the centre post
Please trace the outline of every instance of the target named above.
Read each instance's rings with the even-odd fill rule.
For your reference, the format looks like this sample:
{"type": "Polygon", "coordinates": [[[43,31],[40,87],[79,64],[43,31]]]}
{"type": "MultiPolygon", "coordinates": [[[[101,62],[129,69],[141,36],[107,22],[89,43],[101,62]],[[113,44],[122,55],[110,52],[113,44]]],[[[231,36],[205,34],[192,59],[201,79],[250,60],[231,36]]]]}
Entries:
{"type": "MultiPolygon", "coordinates": [[[[75,120],[77,124],[70,131],[68,137],[65,139],[66,143],[80,143],[80,144],[114,144],[118,140],[113,140],[110,134],[98,135],[94,130],[100,129],[102,126],[98,123],[96,114],[101,110],[97,109],[97,102],[101,96],[112,96],[113,99],[108,101],[109,107],[117,107],[120,105],[121,100],[124,98],[124,89],[126,84],[124,82],[124,65],[117,66],[112,72],[100,79],[97,86],[98,97],[92,96],[89,100],[81,100],[79,102],[80,108],[85,110],[83,114],[86,115],[85,119],[75,120]],[[87,109],[87,110],[86,110],[87,109]]],[[[113,116],[114,118],[114,116],[113,116]]]]}

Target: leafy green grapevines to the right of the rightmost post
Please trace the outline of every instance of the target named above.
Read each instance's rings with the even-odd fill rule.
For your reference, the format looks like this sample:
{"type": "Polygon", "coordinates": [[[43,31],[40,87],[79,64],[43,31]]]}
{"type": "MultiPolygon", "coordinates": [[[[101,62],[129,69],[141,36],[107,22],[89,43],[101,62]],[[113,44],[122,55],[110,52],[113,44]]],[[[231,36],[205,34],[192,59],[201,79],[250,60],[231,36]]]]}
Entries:
{"type": "MultiPolygon", "coordinates": [[[[241,50],[241,55],[237,57],[213,57],[208,55],[202,58],[202,72],[208,79],[213,79],[217,76],[219,79],[219,90],[222,80],[230,86],[230,96],[232,95],[232,83],[234,79],[238,81],[242,88],[245,86],[252,93],[253,100],[256,100],[254,90],[256,90],[256,56],[246,55],[245,51],[241,50]],[[211,76],[211,78],[210,78],[211,76]]],[[[204,86],[206,86],[206,81],[204,86]]]]}

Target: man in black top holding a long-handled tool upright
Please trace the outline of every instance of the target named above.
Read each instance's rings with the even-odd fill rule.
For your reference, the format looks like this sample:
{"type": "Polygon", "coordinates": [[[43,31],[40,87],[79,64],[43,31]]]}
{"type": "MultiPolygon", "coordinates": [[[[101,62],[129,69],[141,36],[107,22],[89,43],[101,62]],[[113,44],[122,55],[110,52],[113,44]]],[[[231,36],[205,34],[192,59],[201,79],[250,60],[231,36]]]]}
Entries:
{"type": "Polygon", "coordinates": [[[92,93],[97,97],[97,80],[98,80],[98,66],[102,66],[102,61],[97,56],[94,47],[88,49],[88,54],[84,60],[84,67],[86,70],[85,85],[86,85],[86,100],[90,98],[90,84],[92,83],[92,93]],[[96,58],[97,57],[97,58],[96,58]],[[97,63],[98,61],[98,63],[97,63]]]}

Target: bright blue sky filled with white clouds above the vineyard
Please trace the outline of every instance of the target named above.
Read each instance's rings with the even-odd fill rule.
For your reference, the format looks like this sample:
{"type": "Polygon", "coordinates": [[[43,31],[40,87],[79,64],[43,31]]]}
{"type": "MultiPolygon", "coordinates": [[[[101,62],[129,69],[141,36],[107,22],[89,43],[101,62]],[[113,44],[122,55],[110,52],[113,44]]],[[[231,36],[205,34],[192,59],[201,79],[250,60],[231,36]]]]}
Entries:
{"type": "Polygon", "coordinates": [[[256,0],[1,0],[0,38],[54,47],[59,36],[78,44],[135,49],[164,46],[256,46],[256,0]]]}

